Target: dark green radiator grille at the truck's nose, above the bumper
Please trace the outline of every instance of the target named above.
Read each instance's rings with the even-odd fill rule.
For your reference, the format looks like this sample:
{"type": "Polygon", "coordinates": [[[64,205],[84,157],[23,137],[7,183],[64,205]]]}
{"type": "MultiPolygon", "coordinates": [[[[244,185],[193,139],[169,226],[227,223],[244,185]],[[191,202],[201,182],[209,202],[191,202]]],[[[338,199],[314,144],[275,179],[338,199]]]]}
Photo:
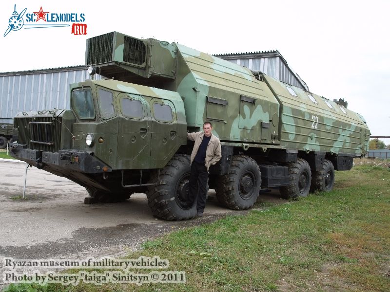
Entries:
{"type": "Polygon", "coordinates": [[[18,144],[25,144],[29,149],[58,152],[61,122],[62,118],[59,117],[16,118],[18,144]]]}

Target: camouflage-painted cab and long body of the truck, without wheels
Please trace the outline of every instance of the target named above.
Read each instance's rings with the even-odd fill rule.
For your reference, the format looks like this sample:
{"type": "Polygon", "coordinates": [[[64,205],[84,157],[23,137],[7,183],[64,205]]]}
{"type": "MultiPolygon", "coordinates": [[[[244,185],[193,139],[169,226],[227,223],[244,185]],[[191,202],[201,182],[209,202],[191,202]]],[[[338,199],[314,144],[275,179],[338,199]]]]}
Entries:
{"type": "Polygon", "coordinates": [[[97,112],[94,121],[74,123],[72,147],[94,152],[114,170],[162,168],[180,146],[187,144],[187,129],[200,130],[205,121],[213,123],[213,133],[222,145],[356,156],[368,149],[370,131],[363,118],[348,109],[344,113],[333,101],[327,101],[334,108],[330,109],[319,95],[311,93],[314,103],[307,95],[310,92],[288,85],[296,92],[293,96],[286,84],[267,75],[258,80],[247,68],[153,38],[132,38],[145,45],[144,51],[133,51],[145,54],[144,63],[132,64],[124,55],[129,46],[126,39],[131,37],[111,34],[113,51],[106,52],[111,59],[98,66],[102,75],[117,80],[71,86],[91,87],[97,112]],[[98,88],[114,95],[116,115],[108,120],[99,113],[98,88]],[[144,118],[123,116],[121,98],[139,99],[144,118]],[[155,102],[173,109],[172,122],[154,118],[155,102]],[[104,138],[104,142],[86,146],[88,133],[104,138]]]}

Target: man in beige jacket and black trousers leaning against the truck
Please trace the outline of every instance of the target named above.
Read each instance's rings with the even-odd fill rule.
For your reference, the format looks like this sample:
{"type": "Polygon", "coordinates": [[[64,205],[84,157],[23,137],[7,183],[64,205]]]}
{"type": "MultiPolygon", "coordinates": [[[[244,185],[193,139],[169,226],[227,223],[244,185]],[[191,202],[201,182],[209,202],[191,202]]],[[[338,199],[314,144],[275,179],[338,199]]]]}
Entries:
{"type": "Polygon", "coordinates": [[[203,216],[206,205],[207,181],[210,165],[221,159],[221,142],[211,133],[213,125],[210,122],[203,124],[203,132],[187,133],[187,139],[195,141],[191,153],[191,175],[189,185],[189,203],[193,205],[196,199],[197,216],[203,216]],[[199,192],[197,186],[199,185],[199,192]]]}

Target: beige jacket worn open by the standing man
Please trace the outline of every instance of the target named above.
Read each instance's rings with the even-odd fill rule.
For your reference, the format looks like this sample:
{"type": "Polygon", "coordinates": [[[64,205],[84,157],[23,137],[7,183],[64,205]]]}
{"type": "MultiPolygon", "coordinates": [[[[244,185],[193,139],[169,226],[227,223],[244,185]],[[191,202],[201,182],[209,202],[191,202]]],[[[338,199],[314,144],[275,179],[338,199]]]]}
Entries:
{"type": "MultiPolygon", "coordinates": [[[[194,149],[191,153],[191,164],[194,161],[199,146],[203,141],[203,137],[204,132],[187,133],[187,139],[195,141],[194,149]]],[[[209,171],[210,165],[216,164],[221,159],[221,156],[221,142],[219,142],[219,139],[215,137],[215,135],[211,134],[210,142],[206,148],[206,158],[204,160],[204,164],[207,168],[207,171],[209,171]]]]}

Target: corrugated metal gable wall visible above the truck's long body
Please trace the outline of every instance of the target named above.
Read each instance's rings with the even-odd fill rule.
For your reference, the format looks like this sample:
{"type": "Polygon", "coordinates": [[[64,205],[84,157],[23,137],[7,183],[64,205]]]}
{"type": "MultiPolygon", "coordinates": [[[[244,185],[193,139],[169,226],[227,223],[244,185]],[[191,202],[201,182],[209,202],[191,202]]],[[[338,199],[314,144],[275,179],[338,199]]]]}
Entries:
{"type": "MultiPolygon", "coordinates": [[[[223,56],[219,57],[223,58],[223,56]]],[[[286,64],[280,59],[279,56],[261,58],[236,58],[228,59],[228,61],[241,66],[245,66],[254,71],[261,71],[282,82],[291,84],[293,86],[305,90],[299,80],[295,77],[289,67],[286,66],[286,64]]]]}

